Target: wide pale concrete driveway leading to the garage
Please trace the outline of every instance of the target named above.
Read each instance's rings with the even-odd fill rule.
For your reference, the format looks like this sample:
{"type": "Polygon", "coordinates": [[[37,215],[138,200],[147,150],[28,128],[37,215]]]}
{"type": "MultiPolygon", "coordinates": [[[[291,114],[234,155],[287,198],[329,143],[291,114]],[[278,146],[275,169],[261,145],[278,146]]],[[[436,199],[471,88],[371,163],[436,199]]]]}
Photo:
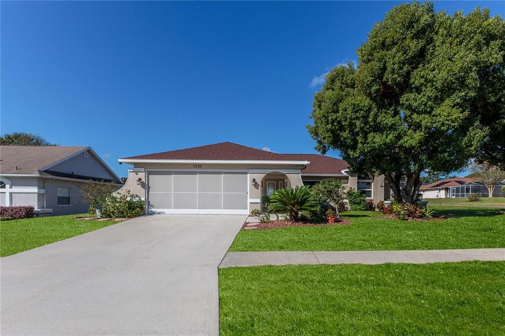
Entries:
{"type": "Polygon", "coordinates": [[[246,216],[153,215],[1,259],[2,335],[218,334],[246,216]]]}

